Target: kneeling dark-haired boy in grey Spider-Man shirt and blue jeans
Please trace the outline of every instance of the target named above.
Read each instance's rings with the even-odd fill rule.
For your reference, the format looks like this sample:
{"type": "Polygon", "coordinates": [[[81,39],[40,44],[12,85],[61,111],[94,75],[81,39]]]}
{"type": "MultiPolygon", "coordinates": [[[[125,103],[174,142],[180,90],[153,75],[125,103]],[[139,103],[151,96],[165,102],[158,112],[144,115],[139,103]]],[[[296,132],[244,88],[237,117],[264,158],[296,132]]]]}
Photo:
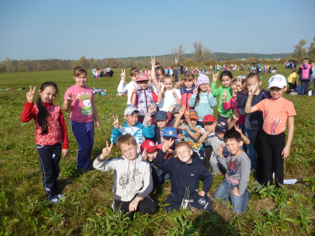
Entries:
{"type": "Polygon", "coordinates": [[[248,202],[247,184],[249,180],[250,160],[242,151],[243,140],[236,130],[229,130],[224,134],[224,143],[230,154],[223,156],[223,145],[220,144],[217,152],[221,165],[226,170],[225,178],[217,191],[216,199],[226,200],[229,197],[233,211],[242,214],[248,202]]]}

